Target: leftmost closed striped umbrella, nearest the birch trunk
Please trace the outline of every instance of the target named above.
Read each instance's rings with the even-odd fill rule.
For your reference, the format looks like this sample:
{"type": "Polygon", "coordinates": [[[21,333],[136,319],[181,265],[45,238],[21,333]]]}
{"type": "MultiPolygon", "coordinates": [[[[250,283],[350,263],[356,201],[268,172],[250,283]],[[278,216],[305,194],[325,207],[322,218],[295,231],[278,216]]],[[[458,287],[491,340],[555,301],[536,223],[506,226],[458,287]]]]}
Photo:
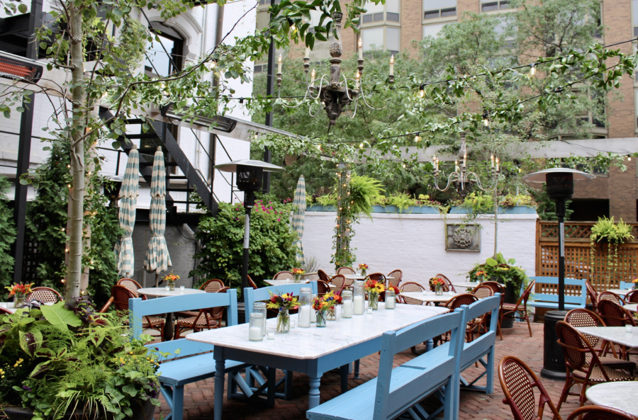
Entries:
{"type": "Polygon", "coordinates": [[[120,188],[118,222],[124,234],[115,246],[118,254],[118,274],[121,277],[133,276],[135,267],[135,256],[133,255],[133,227],[135,227],[135,210],[138,207],[138,177],[140,174],[140,153],[138,147],[133,144],[133,148],[128,153],[124,180],[120,188]]]}

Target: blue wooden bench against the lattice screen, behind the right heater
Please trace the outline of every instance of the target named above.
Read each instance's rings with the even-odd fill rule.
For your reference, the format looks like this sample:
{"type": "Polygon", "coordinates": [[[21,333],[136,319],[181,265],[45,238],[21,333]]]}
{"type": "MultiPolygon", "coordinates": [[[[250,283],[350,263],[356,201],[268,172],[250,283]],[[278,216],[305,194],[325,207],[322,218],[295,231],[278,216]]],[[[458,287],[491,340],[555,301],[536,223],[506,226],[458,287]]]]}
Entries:
{"type": "MultiPolygon", "coordinates": [[[[527,305],[533,307],[547,307],[558,309],[558,277],[530,277],[536,280],[534,293],[527,305]]],[[[587,288],[585,280],[576,278],[565,279],[565,310],[585,307],[587,303],[587,288]]]]}

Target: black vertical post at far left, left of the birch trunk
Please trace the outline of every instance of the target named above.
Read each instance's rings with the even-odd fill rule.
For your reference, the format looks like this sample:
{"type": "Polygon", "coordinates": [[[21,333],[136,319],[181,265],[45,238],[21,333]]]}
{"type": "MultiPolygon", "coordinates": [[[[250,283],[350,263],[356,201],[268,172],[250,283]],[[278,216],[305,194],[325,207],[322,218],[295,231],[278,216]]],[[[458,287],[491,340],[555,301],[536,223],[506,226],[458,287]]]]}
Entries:
{"type": "MultiPolygon", "coordinates": [[[[35,30],[42,25],[42,0],[32,0],[29,16],[29,38],[27,40],[26,57],[38,59],[38,40],[35,30]]],[[[27,186],[20,183],[20,176],[29,171],[31,154],[31,135],[33,132],[33,108],[35,94],[31,93],[27,101],[22,102],[24,111],[20,117],[20,138],[18,143],[18,161],[16,162],[16,195],[13,202],[13,219],[16,222],[16,243],[13,245],[13,283],[23,282],[24,242],[26,234],[27,186]]]]}

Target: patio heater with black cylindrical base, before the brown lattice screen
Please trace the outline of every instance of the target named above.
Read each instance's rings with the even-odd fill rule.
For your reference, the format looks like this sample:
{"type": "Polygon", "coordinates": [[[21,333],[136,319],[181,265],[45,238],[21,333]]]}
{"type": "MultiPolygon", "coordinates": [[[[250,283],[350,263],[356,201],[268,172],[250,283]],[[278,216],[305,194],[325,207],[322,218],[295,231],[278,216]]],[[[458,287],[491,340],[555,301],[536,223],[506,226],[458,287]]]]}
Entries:
{"type": "Polygon", "coordinates": [[[553,380],[565,380],[565,358],[561,346],[556,342],[556,323],[563,321],[565,311],[565,201],[573,195],[573,181],[591,179],[595,176],[576,169],[544,169],[523,177],[530,182],[544,182],[547,195],[556,202],[559,220],[559,309],[545,313],[543,369],[541,376],[553,380]]]}

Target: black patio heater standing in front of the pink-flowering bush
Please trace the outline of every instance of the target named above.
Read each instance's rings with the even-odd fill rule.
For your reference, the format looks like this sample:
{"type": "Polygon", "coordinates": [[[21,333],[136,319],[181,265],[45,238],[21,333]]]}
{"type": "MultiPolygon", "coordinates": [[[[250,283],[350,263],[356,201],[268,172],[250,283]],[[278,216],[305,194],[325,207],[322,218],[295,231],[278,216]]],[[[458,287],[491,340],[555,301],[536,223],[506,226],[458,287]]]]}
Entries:
{"type": "MultiPolygon", "coordinates": [[[[244,192],[244,209],[246,220],[244,225],[244,261],[242,264],[242,291],[248,287],[248,256],[250,255],[250,212],[254,207],[254,193],[262,189],[264,172],[281,172],[284,168],[264,161],[244,159],[215,166],[224,172],[237,173],[237,189],[244,192]]],[[[240,302],[244,301],[242,294],[240,302]]]]}

